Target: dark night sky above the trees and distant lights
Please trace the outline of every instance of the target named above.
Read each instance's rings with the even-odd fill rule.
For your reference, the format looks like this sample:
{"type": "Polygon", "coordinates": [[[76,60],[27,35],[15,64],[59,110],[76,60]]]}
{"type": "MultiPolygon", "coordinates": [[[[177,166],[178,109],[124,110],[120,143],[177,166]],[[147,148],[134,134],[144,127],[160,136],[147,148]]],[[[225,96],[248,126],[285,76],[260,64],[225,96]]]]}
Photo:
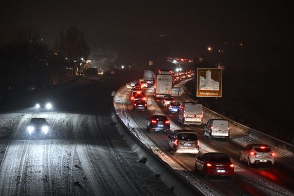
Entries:
{"type": "Polygon", "coordinates": [[[193,55],[195,46],[293,42],[291,6],[267,1],[5,1],[0,43],[17,28],[37,27],[52,45],[58,32],[76,26],[90,48],[144,46],[165,39],[171,53],[193,55]]]}

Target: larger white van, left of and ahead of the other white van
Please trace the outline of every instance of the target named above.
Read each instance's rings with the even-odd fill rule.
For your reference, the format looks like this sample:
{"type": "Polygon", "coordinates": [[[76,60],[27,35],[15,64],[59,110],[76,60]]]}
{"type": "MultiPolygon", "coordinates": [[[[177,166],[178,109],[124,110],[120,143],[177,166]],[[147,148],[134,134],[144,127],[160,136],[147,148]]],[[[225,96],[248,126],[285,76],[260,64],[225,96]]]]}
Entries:
{"type": "Polygon", "coordinates": [[[182,102],[178,121],[184,124],[201,125],[203,119],[202,105],[195,102],[182,102]]]}

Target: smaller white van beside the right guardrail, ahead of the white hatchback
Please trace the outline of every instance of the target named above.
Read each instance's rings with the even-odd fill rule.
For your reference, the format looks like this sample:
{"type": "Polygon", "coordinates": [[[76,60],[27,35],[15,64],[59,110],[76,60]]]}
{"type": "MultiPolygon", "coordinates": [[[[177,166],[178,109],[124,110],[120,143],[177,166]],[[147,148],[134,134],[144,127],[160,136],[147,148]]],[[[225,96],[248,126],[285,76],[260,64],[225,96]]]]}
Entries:
{"type": "Polygon", "coordinates": [[[230,127],[229,122],[222,119],[210,119],[204,125],[204,137],[211,138],[224,138],[229,139],[230,127]]]}

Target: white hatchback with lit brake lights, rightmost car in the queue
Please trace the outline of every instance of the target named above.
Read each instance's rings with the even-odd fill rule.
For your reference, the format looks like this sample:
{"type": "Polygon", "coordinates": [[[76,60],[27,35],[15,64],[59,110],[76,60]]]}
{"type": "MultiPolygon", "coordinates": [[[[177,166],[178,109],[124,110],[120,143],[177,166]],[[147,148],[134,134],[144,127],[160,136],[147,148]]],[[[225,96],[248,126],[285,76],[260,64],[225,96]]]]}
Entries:
{"type": "Polygon", "coordinates": [[[248,166],[253,164],[274,164],[276,153],[268,145],[249,144],[240,151],[240,161],[247,162],[248,166]]]}

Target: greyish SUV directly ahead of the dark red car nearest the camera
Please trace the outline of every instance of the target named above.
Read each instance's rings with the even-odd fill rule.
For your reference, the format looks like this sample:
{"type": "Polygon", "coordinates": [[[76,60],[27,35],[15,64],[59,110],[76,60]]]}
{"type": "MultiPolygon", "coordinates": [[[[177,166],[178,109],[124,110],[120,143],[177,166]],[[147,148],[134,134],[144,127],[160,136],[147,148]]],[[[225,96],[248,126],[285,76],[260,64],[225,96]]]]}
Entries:
{"type": "Polygon", "coordinates": [[[169,136],[168,148],[175,153],[199,153],[199,140],[196,132],[186,129],[174,130],[169,136]]]}

